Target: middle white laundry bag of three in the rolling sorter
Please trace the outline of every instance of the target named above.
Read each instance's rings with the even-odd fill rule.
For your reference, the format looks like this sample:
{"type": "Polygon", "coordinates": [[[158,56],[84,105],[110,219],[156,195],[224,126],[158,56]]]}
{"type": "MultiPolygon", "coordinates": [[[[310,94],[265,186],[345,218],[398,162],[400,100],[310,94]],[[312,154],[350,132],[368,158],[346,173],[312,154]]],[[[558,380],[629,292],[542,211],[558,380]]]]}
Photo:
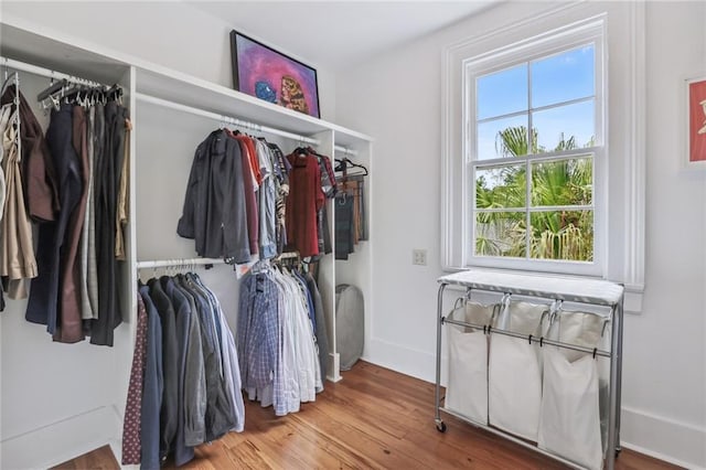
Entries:
{"type": "Polygon", "coordinates": [[[532,441],[537,440],[542,404],[542,371],[536,350],[548,309],[546,305],[509,302],[499,318],[499,329],[533,334],[536,340],[532,344],[500,333],[490,337],[489,421],[532,441]]]}

